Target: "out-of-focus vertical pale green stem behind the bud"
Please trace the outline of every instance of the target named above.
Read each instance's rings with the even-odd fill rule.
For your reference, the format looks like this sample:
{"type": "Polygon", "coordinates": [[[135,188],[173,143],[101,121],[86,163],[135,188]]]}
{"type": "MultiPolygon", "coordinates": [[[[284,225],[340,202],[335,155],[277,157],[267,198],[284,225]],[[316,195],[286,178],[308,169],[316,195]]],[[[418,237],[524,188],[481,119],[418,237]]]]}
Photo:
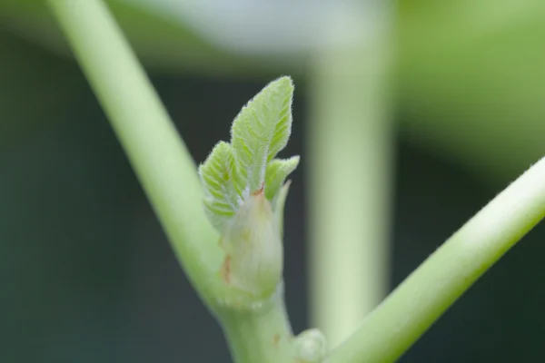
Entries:
{"type": "Polygon", "coordinates": [[[312,320],[329,348],[379,304],[389,280],[388,36],[360,25],[350,30],[365,37],[344,43],[337,32],[351,20],[326,28],[310,87],[312,320]]]}

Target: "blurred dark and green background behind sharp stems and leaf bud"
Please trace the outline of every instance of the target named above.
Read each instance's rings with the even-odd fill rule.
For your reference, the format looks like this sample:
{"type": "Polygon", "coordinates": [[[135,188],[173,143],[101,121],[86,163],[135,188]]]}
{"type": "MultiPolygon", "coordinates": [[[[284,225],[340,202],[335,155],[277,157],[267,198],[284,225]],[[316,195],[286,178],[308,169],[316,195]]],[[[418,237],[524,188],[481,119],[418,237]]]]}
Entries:
{"type": "MultiPolygon", "coordinates": [[[[108,4],[197,163],[293,76],[296,332],[349,333],[328,324],[359,321],[545,154],[538,0],[108,4]]],[[[63,39],[44,2],[0,2],[0,361],[229,362],[63,39]]],[[[530,232],[401,362],[542,361],[544,238],[530,232]]]]}

